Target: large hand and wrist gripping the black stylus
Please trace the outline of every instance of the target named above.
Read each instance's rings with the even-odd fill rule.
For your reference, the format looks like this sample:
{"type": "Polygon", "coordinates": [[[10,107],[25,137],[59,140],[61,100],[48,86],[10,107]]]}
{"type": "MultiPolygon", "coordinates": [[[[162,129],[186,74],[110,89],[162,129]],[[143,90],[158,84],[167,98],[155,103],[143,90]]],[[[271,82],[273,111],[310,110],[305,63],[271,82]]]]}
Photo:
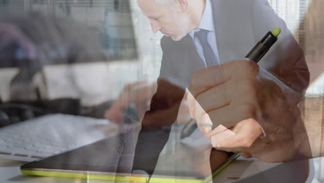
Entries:
{"type": "Polygon", "coordinates": [[[190,116],[217,150],[264,162],[304,159],[310,148],[297,99],[287,96],[287,85],[268,76],[273,75],[252,60],[235,60],[193,73],[190,116]],[[258,138],[260,126],[267,134],[263,139],[258,138]]]}

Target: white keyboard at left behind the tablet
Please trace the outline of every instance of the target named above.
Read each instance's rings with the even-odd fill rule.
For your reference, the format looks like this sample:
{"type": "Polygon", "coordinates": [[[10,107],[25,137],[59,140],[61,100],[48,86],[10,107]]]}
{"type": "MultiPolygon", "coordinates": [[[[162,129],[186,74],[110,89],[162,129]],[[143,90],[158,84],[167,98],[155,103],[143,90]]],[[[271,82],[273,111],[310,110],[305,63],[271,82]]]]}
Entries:
{"type": "Polygon", "coordinates": [[[0,158],[32,162],[118,132],[105,119],[53,114],[0,128],[0,158]]]}

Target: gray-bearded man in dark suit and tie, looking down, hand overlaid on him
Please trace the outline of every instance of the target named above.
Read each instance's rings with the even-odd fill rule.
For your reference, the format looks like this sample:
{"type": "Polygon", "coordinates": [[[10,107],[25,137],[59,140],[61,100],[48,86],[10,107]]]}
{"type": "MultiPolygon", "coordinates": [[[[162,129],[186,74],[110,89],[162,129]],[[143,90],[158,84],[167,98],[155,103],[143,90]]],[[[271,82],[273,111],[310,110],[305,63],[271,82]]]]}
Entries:
{"type": "Polygon", "coordinates": [[[188,88],[190,116],[217,150],[284,162],[310,157],[298,103],[309,85],[303,55],[285,22],[267,0],[138,0],[154,33],[160,31],[163,59],[158,89],[145,113],[134,162],[152,173],[168,135],[145,152],[147,130],[177,119],[188,88]],[[258,64],[244,56],[273,28],[278,42],[258,64]],[[167,80],[168,82],[166,82],[167,80]],[[168,84],[166,84],[168,83],[168,84]],[[172,83],[172,84],[170,84],[172,83]]]}

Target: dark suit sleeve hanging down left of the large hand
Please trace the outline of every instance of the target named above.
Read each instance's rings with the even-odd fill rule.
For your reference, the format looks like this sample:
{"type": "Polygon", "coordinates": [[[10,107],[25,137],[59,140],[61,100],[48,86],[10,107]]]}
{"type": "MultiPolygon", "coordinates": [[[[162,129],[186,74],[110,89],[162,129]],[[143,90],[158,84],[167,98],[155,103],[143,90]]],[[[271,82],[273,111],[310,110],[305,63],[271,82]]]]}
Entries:
{"type": "Polygon", "coordinates": [[[165,80],[159,80],[150,110],[141,121],[136,143],[133,169],[152,174],[159,155],[169,139],[172,123],[176,121],[184,90],[165,80]]]}

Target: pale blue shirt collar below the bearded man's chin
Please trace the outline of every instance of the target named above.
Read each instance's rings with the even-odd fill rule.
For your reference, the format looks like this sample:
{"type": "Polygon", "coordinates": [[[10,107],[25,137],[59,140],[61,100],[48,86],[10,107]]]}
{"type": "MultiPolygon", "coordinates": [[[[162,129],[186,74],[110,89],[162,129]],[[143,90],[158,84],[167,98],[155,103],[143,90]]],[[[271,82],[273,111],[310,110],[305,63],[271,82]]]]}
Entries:
{"type": "Polygon", "coordinates": [[[209,30],[215,32],[214,27],[214,19],[213,19],[213,8],[210,0],[206,0],[206,6],[204,13],[201,17],[201,20],[199,22],[199,26],[195,28],[194,30],[191,30],[189,32],[189,35],[193,38],[196,31],[199,31],[200,29],[209,30]]]}

